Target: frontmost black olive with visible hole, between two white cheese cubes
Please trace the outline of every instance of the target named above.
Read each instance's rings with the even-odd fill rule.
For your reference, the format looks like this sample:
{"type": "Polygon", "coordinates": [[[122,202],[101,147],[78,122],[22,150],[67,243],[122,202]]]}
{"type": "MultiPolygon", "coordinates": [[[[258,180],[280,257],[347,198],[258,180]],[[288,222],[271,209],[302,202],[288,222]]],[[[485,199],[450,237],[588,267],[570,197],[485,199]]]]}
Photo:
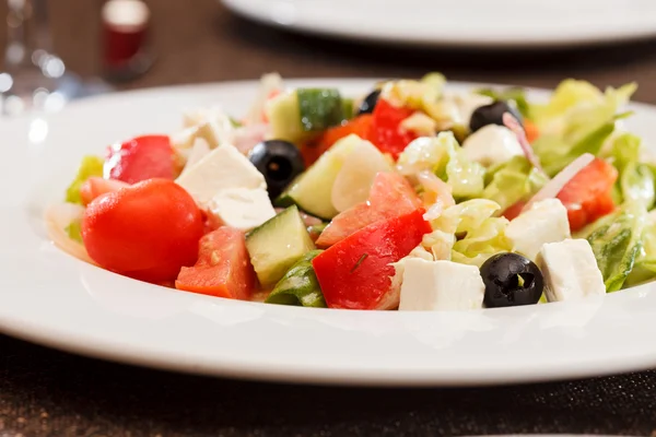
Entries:
{"type": "Polygon", "coordinates": [[[534,305],[540,300],[544,280],[540,269],[519,253],[497,253],[481,265],[488,308],[534,305]]]}

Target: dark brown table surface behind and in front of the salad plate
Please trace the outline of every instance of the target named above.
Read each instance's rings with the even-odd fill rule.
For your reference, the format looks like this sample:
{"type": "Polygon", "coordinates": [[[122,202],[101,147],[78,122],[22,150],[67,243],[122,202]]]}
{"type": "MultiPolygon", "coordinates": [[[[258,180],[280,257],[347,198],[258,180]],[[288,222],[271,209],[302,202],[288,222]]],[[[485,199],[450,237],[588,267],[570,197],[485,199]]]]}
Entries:
{"type": "MultiPolygon", "coordinates": [[[[56,51],[83,78],[99,74],[99,1],[52,4],[56,51]]],[[[453,80],[543,87],[566,76],[598,86],[636,81],[636,99],[656,104],[656,42],[553,52],[390,49],[269,29],[213,0],[149,4],[157,61],[119,88],[256,79],[267,71],[303,78],[436,70],[453,80]]],[[[0,436],[500,433],[656,435],[656,371],[484,389],[297,387],[133,368],[0,335],[0,436]]]]}

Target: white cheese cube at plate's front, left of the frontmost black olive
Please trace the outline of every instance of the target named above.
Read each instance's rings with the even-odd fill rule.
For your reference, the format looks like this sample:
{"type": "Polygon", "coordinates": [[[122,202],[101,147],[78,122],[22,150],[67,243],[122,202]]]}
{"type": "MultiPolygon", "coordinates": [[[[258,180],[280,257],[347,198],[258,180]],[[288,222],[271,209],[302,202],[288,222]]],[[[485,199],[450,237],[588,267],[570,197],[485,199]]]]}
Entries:
{"type": "Polygon", "coordinates": [[[485,285],[476,265],[452,261],[403,261],[400,310],[482,308],[485,285]]]}

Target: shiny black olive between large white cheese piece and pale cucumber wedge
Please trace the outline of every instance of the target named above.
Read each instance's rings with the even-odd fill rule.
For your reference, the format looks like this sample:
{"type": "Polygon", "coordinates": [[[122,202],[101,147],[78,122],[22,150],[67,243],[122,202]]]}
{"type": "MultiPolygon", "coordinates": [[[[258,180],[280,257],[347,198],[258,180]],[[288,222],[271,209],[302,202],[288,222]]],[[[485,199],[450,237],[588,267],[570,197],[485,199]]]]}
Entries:
{"type": "Polygon", "coordinates": [[[248,160],[265,176],[271,199],[280,196],[305,169],[298,147],[284,140],[262,141],[253,147],[248,160]]]}

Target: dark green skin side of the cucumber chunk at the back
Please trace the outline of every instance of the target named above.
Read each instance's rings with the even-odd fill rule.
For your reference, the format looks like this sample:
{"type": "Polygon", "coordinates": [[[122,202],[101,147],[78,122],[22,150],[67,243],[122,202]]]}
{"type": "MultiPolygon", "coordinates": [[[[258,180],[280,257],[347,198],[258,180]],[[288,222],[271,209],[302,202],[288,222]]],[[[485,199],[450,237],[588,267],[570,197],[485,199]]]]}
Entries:
{"type": "Polygon", "coordinates": [[[306,132],[325,130],[340,125],[343,117],[342,99],[335,88],[298,88],[301,126],[306,132]]]}

